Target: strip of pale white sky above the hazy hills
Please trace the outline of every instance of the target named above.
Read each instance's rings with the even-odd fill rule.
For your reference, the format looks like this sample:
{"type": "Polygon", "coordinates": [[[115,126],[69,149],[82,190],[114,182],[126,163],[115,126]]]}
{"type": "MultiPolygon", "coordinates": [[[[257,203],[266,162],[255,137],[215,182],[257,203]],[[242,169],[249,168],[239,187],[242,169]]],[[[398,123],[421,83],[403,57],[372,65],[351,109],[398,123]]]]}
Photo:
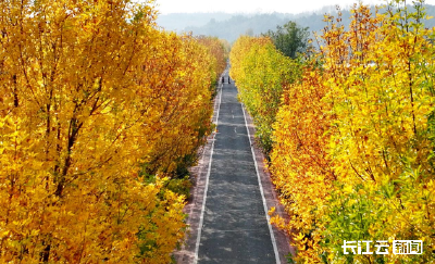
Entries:
{"type": "MultiPolygon", "coordinates": [[[[167,13],[219,12],[251,13],[251,12],[279,12],[300,13],[320,10],[324,5],[339,4],[351,5],[358,0],[157,0],[158,10],[167,13]]],[[[364,3],[383,4],[383,0],[363,0],[364,3]]],[[[412,3],[411,0],[407,2],[412,3]]],[[[435,0],[426,0],[435,4],[435,0]]]]}

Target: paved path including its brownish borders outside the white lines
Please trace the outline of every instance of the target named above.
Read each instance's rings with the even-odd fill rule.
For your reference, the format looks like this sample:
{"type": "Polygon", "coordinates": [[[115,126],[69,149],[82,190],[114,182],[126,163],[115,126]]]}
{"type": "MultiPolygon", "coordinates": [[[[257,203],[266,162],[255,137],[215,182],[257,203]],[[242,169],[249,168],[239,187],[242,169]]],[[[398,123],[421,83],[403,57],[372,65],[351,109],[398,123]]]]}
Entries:
{"type": "Polygon", "coordinates": [[[268,225],[265,212],[275,206],[276,213],[286,214],[264,168],[263,154],[251,148],[252,120],[244,114],[227,71],[224,76],[214,102],[217,133],[210,135],[199,164],[190,169],[195,188],[184,209],[189,235],[174,257],[177,264],[285,264],[295,250],[284,231],[268,225]]]}

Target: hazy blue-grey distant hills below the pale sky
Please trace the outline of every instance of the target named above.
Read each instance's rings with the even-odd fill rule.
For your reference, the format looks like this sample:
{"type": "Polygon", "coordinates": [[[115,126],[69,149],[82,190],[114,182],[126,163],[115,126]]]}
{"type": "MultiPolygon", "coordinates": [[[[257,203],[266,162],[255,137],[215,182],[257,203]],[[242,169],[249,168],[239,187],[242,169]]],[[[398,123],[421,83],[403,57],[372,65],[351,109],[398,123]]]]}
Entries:
{"type": "MultiPolygon", "coordinates": [[[[435,16],[435,5],[425,4],[427,15],[435,16]]],[[[191,13],[160,15],[158,24],[167,30],[192,32],[194,35],[216,36],[233,42],[241,34],[260,35],[277,25],[295,21],[310,32],[320,32],[324,28],[323,15],[336,14],[335,7],[325,7],[312,13],[286,14],[228,14],[228,13],[191,13]]],[[[341,10],[343,24],[350,22],[348,9],[341,10]]],[[[435,18],[425,22],[426,27],[435,26],[435,18]]]]}

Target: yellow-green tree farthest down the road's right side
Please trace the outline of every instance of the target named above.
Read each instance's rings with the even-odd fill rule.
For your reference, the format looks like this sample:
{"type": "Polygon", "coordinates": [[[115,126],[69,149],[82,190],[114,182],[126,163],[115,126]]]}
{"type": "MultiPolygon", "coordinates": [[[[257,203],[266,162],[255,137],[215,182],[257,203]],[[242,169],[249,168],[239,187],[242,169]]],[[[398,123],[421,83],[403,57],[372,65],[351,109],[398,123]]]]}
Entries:
{"type": "Polygon", "coordinates": [[[269,153],[283,88],[298,78],[298,63],[277,51],[269,37],[240,37],[229,59],[239,99],[252,115],[260,147],[269,153]]]}

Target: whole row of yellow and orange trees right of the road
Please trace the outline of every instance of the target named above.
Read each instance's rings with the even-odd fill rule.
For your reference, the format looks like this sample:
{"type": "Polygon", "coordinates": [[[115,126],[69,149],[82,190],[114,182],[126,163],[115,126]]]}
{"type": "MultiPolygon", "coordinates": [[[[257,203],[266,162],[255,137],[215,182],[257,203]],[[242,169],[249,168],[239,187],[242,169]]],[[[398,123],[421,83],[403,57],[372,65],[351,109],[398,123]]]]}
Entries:
{"type": "Polygon", "coordinates": [[[272,49],[264,38],[243,37],[232,50],[232,76],[248,111],[257,123],[265,124],[257,109],[275,120],[270,169],[289,218],[272,221],[294,234],[293,260],[435,259],[435,49],[422,2],[410,12],[395,1],[383,14],[355,5],[348,30],[340,16],[326,16],[321,50],[299,66],[276,50],[249,55],[272,49]],[[279,74],[286,71],[291,77],[279,74]],[[252,96],[260,88],[264,95],[252,96]],[[345,240],[373,241],[372,252],[387,240],[389,254],[344,254],[345,240]],[[393,240],[423,240],[423,254],[395,255],[393,240]]]}

